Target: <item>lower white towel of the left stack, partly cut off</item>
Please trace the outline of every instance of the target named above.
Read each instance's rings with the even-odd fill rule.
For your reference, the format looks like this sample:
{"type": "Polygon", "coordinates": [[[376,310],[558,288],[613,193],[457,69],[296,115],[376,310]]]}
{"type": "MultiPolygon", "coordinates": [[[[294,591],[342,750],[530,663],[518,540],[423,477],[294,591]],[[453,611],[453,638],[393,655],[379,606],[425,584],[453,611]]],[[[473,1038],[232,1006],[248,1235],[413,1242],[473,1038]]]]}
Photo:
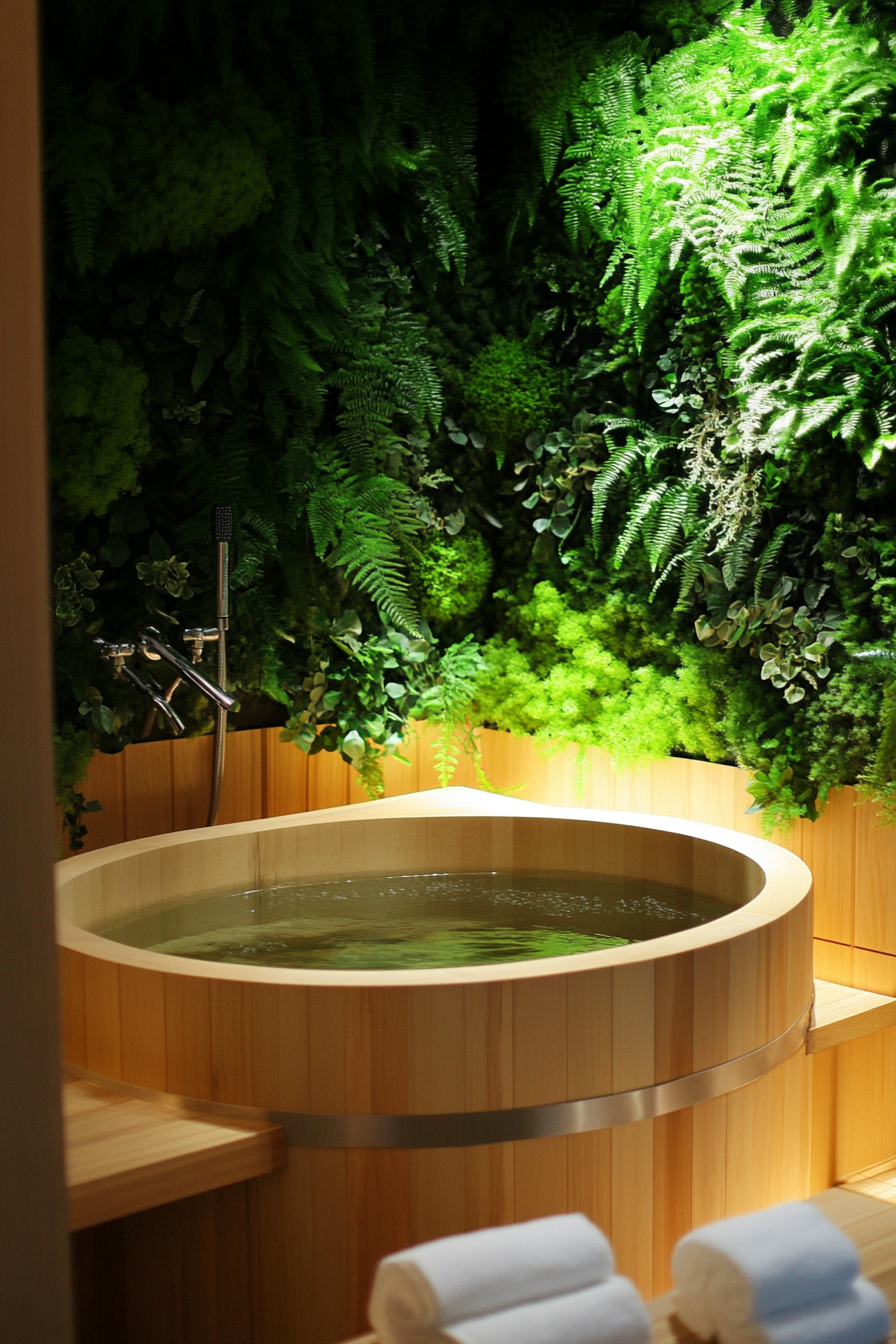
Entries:
{"type": "Polygon", "coordinates": [[[434,1337],[453,1344],[649,1344],[650,1317],[634,1284],[615,1275],[578,1293],[457,1321],[434,1337]]]}

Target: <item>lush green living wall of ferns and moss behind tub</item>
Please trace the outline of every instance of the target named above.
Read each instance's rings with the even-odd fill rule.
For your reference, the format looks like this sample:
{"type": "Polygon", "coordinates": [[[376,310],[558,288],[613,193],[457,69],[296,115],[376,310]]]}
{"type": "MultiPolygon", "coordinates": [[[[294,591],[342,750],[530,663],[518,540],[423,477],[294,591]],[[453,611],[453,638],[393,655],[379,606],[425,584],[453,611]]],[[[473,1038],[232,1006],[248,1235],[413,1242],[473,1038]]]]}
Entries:
{"type": "Polygon", "coordinates": [[[90,754],[167,731],[95,641],[210,622],[218,503],[236,723],[369,797],[430,718],[443,782],[488,723],[736,762],[770,829],[893,805],[889,11],[44,22],[73,843],[90,754]]]}

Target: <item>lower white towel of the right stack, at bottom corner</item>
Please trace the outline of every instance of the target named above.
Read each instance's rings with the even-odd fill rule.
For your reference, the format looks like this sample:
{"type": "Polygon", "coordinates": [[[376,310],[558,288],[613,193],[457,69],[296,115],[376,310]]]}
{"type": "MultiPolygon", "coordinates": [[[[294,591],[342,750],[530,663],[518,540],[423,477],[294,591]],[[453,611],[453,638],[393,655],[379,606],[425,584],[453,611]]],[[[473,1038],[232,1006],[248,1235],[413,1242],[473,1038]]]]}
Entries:
{"type": "Polygon", "coordinates": [[[889,1305],[866,1278],[854,1279],[838,1297],[719,1333],[721,1344],[884,1344],[888,1337],[889,1305]]]}

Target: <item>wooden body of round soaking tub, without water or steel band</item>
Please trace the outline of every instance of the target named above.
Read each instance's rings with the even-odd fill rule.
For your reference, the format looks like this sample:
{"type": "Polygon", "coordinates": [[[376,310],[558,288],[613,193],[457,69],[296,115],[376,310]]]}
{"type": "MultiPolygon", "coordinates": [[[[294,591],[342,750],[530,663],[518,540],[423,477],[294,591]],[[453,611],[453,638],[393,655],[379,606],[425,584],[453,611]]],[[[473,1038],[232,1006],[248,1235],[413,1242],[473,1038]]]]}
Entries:
{"type": "MultiPolygon", "coordinates": [[[[70,1062],[137,1086],[271,1110],[506,1110],[649,1087],[739,1058],[778,1038],[809,1003],[810,879],[774,847],[744,839],[723,848],[686,827],[680,835],[647,828],[642,844],[639,827],[527,814],[524,802],[472,793],[408,800],[422,816],[396,814],[403,806],[373,805],[377,820],[351,809],[332,821],[290,817],[75,857],[59,874],[60,913],[83,927],[227,880],[312,878],[321,868],[575,872],[592,871],[598,853],[611,871],[695,878],[701,890],[735,898],[732,913],[670,938],[551,964],[371,973],[189,962],[63,923],[70,1062]],[[453,814],[439,816],[446,808],[453,814]],[[756,864],[768,884],[742,913],[736,903],[763,887],[756,864]]],[[[122,1220],[114,1234],[81,1236],[82,1302],[93,1301],[95,1321],[105,1275],[126,1285],[125,1318],[114,1317],[107,1336],[116,1344],[142,1341],[141,1329],[146,1340],[218,1344],[240,1336],[222,1333],[232,1321],[216,1294],[242,1282],[251,1327],[242,1339],[333,1344],[364,1328],[382,1255],[575,1208],[611,1235],[621,1270],[653,1296],[668,1286],[674,1241],[695,1222],[809,1192],[809,1068],[797,1056],[717,1101],[572,1137],[292,1148],[286,1171],[253,1183],[243,1199],[184,1202],[180,1214],[172,1207],[122,1220]],[[184,1316],[179,1259],[195,1235],[206,1238],[196,1284],[204,1306],[184,1316]],[[223,1275],[228,1247],[234,1265],[223,1275]],[[90,1285],[98,1285],[93,1293],[90,1285]],[[164,1324],[175,1300],[189,1335],[164,1324]],[[160,1310],[168,1313],[161,1324],[160,1310]]],[[[195,1247],[188,1261],[195,1266],[195,1247]]],[[[85,1344],[93,1340],[106,1344],[99,1333],[85,1344]]]]}

